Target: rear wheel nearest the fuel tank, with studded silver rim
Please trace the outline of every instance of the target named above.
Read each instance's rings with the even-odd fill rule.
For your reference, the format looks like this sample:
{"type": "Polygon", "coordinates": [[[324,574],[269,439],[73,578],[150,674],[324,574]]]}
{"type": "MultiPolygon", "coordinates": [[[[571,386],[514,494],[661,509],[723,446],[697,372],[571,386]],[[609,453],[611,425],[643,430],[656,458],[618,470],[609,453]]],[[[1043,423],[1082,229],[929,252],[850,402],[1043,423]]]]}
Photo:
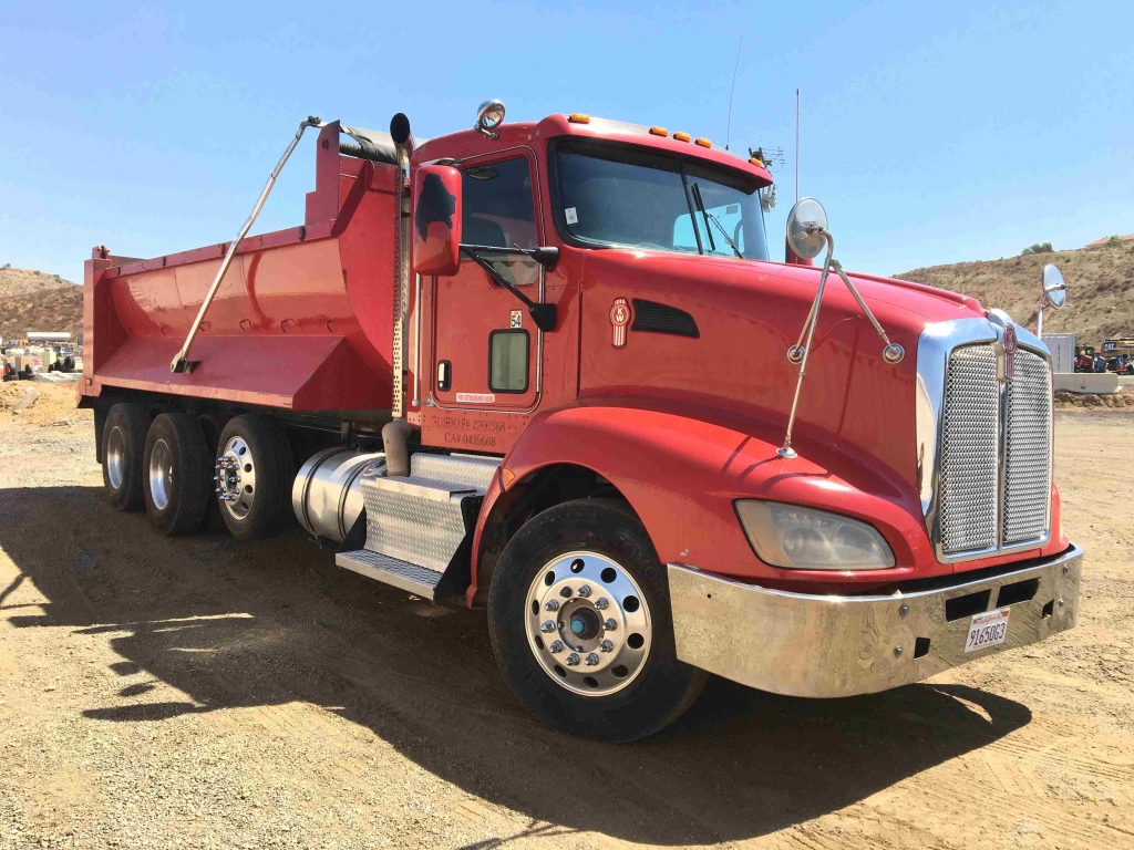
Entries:
{"type": "Polygon", "coordinates": [[[217,486],[223,491],[220,516],[232,536],[254,541],[279,532],[291,517],[295,479],[295,458],[284,428],[255,414],[229,419],[217,462],[222,465],[217,469],[217,486]]]}

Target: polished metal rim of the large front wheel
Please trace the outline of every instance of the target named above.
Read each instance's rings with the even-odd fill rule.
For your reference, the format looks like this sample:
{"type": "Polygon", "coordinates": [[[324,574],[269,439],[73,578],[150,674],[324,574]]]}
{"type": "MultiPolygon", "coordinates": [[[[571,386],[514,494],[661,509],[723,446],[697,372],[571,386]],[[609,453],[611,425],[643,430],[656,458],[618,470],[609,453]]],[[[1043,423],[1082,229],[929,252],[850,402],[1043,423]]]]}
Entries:
{"type": "Polygon", "coordinates": [[[524,624],[527,645],[548,677],[587,697],[633,682],[653,643],[642,588],[621,564],[598,552],[549,561],[527,589],[524,624]]]}

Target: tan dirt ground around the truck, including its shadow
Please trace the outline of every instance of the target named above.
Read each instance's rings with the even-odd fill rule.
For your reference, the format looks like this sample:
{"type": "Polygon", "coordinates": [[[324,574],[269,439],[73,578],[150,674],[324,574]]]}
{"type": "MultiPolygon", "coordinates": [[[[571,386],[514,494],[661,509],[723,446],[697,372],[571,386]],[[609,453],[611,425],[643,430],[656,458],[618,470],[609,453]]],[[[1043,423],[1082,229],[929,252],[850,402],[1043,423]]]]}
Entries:
{"type": "Polygon", "coordinates": [[[714,680],[662,734],[603,746],[517,704],[480,612],[298,533],[164,539],[115,512],[73,390],[12,414],[12,386],[3,850],[1134,847],[1134,410],[1057,414],[1077,629],[871,697],[714,680]]]}

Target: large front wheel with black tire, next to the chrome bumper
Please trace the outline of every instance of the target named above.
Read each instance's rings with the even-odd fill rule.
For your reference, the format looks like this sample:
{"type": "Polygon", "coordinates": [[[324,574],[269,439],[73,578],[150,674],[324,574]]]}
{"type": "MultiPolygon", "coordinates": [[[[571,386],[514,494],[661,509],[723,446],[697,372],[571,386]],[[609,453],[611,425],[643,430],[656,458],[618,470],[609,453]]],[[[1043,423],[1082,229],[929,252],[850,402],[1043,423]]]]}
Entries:
{"type": "Polygon", "coordinates": [[[516,533],[492,576],[489,630],[521,702],[544,723],[584,738],[653,734],[677,720],[709,680],[677,660],[666,570],[642,522],[613,500],[565,502],[516,533]],[[615,619],[616,628],[608,631],[607,620],[596,632],[586,623],[575,632],[577,620],[593,619],[582,617],[587,607],[601,611],[600,621],[615,619]],[[613,647],[603,646],[608,640],[613,647]]]}

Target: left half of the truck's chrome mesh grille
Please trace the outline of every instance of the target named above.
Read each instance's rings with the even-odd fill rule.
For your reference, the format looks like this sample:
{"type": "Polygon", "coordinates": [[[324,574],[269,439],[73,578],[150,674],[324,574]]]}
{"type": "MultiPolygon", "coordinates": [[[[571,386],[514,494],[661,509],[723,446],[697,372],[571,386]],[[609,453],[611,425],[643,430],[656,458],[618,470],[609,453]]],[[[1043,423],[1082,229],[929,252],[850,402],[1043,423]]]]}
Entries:
{"type": "Polygon", "coordinates": [[[941,434],[941,549],[997,545],[1000,384],[991,346],[957,348],[946,371],[941,434]]]}

